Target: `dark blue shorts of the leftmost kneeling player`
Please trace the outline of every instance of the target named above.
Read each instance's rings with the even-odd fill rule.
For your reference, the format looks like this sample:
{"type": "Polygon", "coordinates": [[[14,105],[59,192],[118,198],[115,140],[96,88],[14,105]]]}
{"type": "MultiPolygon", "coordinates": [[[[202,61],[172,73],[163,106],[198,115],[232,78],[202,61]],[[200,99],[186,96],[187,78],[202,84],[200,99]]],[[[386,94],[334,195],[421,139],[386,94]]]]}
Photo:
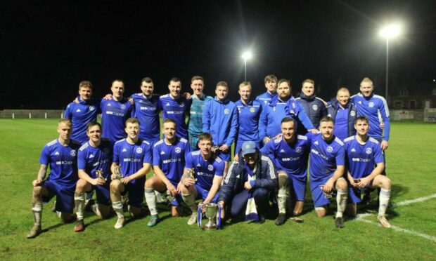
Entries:
{"type": "Polygon", "coordinates": [[[74,194],[76,185],[67,186],[52,180],[46,180],[43,184],[49,191],[49,195],[42,196],[42,201],[48,203],[53,196],[56,196],[56,211],[72,213],[75,207],[74,194]]]}

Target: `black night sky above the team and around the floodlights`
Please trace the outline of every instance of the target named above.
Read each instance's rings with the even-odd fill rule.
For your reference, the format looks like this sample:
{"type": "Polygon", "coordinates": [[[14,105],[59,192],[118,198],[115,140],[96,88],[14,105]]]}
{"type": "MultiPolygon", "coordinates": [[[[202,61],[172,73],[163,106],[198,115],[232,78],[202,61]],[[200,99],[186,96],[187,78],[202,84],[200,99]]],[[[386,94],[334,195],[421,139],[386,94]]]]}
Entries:
{"type": "Polygon", "coordinates": [[[364,76],[384,95],[386,47],[378,31],[392,20],[404,27],[390,41],[392,78],[436,78],[436,1],[4,2],[0,109],[65,108],[85,79],[96,97],[117,78],[130,95],[145,76],[159,94],[174,76],[183,91],[191,91],[193,75],[203,76],[210,95],[227,81],[237,100],[245,49],[254,55],[247,68],[253,95],[264,92],[267,74],[290,79],[293,95],[311,78],[329,100],[338,84],[357,91],[364,76]]]}

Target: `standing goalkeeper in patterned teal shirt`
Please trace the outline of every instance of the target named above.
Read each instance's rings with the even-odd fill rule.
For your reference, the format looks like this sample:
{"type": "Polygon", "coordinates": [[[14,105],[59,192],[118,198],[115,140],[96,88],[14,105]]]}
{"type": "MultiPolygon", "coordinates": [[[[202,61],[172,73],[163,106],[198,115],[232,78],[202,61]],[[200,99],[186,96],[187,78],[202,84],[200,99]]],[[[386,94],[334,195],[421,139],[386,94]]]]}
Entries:
{"type": "Polygon", "coordinates": [[[198,149],[198,137],[203,133],[203,107],[205,102],[213,98],[203,93],[205,88],[205,81],[202,76],[193,76],[191,79],[191,88],[193,91],[192,105],[190,109],[190,116],[188,121],[189,145],[192,150],[198,149]]]}

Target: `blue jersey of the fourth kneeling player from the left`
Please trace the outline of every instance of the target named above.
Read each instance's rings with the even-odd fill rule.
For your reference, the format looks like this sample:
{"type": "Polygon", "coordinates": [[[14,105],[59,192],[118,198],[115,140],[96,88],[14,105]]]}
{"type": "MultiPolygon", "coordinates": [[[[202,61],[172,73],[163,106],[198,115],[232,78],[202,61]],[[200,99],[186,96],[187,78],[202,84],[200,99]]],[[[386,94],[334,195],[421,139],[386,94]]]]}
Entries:
{"type": "Polygon", "coordinates": [[[153,166],[158,166],[173,185],[177,185],[183,175],[186,156],[191,152],[188,140],[177,138],[172,145],[160,140],[153,147],[153,166]]]}

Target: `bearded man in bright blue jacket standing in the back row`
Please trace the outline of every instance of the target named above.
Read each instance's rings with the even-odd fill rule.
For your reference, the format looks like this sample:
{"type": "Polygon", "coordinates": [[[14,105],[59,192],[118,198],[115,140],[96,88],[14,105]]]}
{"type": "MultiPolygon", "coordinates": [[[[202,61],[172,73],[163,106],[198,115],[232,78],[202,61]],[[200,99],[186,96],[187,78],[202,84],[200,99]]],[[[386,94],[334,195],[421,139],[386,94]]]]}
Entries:
{"type": "MultiPolygon", "coordinates": [[[[295,101],[290,95],[290,82],[286,79],[281,79],[277,83],[277,95],[274,96],[269,104],[264,107],[259,118],[259,138],[264,144],[281,133],[281,119],[286,116],[291,116],[297,126],[303,124],[304,128],[312,131],[314,126],[304,112],[300,102],[295,101]]],[[[300,133],[297,133],[300,134],[300,133]]]]}

